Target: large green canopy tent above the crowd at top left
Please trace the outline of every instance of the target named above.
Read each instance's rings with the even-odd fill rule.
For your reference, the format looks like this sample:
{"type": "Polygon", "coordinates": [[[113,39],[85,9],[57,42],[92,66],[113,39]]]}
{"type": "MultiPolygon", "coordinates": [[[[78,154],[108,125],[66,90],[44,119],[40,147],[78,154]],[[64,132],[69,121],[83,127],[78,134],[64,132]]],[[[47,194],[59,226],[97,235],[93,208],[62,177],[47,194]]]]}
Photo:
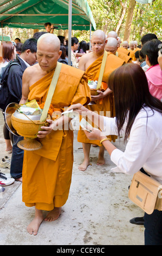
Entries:
{"type": "Polygon", "coordinates": [[[96,29],[86,0],[0,0],[0,22],[2,33],[5,26],[42,29],[51,22],[56,29],[68,29],[69,48],[72,30],[90,31],[91,35],[96,29]]]}

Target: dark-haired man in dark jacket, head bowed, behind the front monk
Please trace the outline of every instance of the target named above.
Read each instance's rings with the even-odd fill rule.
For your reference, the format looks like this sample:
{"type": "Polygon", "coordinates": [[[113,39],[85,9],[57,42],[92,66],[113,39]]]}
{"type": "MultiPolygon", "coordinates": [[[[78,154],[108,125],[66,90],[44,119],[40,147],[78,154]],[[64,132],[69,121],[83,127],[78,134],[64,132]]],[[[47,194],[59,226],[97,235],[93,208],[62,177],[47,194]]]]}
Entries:
{"type": "MultiPolygon", "coordinates": [[[[10,92],[10,103],[19,103],[22,96],[22,75],[28,66],[36,62],[37,40],[27,39],[22,45],[22,53],[16,54],[16,60],[20,65],[13,65],[9,70],[7,85],[10,92]]],[[[11,156],[11,176],[18,181],[22,181],[23,150],[17,147],[17,142],[23,137],[14,135],[13,153],[11,156]]]]}

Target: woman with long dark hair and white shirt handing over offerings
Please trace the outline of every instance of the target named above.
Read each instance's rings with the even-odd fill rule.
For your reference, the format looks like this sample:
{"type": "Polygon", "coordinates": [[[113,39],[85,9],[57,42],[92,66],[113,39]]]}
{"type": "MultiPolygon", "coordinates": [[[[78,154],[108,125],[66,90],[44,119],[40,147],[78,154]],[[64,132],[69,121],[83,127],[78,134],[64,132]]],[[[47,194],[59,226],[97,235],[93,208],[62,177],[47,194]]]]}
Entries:
{"type": "MultiPolygon", "coordinates": [[[[108,86],[114,93],[115,118],[72,105],[99,129],[85,131],[89,139],[99,139],[116,164],[113,172],[133,175],[141,168],[162,184],[162,102],[149,93],[145,72],[138,64],[125,64],[109,76],[108,86]],[[108,135],[124,134],[124,152],[112,144],[108,135]]],[[[161,199],[162,200],[162,199],[161,199]]],[[[145,245],[162,245],[162,211],[145,213],[145,245]]]]}

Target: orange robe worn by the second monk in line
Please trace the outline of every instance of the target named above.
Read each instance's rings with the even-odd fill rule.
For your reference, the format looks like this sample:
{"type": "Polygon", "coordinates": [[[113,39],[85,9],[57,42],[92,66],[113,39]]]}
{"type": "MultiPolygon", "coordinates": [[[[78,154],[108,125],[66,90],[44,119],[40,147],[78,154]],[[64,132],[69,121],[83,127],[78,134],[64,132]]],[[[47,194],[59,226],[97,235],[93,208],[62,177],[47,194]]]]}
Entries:
{"type": "MultiPolygon", "coordinates": [[[[85,75],[88,77],[88,80],[91,81],[98,81],[99,71],[101,69],[103,55],[95,60],[89,68],[85,71],[85,75]]],[[[107,62],[105,64],[104,74],[102,78],[102,82],[104,82],[104,86],[106,85],[105,89],[108,88],[108,77],[115,69],[119,68],[119,66],[123,65],[124,61],[119,57],[116,57],[113,53],[108,52],[107,62]]],[[[87,105],[86,108],[90,109],[91,111],[97,111],[98,114],[102,114],[104,116],[113,117],[115,115],[115,108],[114,108],[114,99],[113,93],[105,96],[102,101],[97,100],[95,105],[87,105]]],[[[94,125],[93,125],[94,126],[94,125]]],[[[110,141],[113,140],[115,142],[116,136],[109,136],[110,141]]],[[[85,136],[84,131],[80,128],[78,131],[78,142],[82,143],[90,143],[100,145],[98,140],[90,140],[85,136]]]]}

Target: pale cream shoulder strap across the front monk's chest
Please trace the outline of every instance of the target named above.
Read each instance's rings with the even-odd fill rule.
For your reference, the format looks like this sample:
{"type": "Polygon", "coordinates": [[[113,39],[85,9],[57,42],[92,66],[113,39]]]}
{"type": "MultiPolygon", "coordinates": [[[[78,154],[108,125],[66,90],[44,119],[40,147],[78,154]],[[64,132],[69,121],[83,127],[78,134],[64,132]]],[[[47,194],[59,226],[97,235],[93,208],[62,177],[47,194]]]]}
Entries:
{"type": "Polygon", "coordinates": [[[47,99],[46,99],[46,102],[45,102],[45,106],[43,108],[43,112],[42,112],[42,115],[41,115],[41,118],[40,118],[40,122],[44,122],[47,118],[48,109],[49,109],[49,106],[51,105],[51,101],[52,101],[52,97],[53,97],[53,94],[54,94],[54,91],[55,91],[55,87],[57,86],[61,66],[62,66],[62,64],[58,62],[57,66],[55,68],[53,77],[52,77],[51,84],[49,86],[47,99]]]}

